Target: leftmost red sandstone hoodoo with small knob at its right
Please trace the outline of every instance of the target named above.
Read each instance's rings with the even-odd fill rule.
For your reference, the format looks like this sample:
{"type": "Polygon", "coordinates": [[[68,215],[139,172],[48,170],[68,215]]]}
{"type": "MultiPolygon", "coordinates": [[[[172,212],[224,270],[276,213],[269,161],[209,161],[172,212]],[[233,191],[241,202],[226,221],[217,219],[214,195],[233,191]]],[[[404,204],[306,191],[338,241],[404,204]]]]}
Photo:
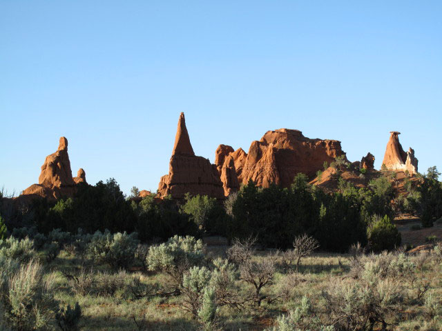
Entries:
{"type": "Polygon", "coordinates": [[[48,155],[41,165],[39,183],[30,185],[22,195],[35,195],[58,199],[71,197],[75,193],[76,183],[86,183],[86,172],[79,169],[77,177],[72,177],[68,155],[68,139],[61,137],[57,152],[48,155]]]}

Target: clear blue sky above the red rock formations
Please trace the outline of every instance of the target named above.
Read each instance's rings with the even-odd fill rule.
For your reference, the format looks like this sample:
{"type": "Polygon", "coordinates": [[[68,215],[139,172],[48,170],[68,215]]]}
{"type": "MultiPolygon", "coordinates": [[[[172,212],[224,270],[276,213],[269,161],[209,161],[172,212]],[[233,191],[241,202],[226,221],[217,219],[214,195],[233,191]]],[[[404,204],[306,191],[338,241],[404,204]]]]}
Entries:
{"type": "Polygon", "coordinates": [[[195,154],[267,130],[337,139],[381,167],[401,132],[442,170],[442,1],[0,0],[0,187],[73,174],[155,191],[180,112],[195,154]]]}

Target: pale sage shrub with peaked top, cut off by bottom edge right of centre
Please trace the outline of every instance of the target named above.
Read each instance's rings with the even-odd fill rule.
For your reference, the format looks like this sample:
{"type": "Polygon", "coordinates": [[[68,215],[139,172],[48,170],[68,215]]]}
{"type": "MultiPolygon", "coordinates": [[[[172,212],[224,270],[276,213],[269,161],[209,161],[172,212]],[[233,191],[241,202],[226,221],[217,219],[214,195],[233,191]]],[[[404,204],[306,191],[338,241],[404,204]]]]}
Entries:
{"type": "Polygon", "coordinates": [[[324,325],[314,314],[311,302],[302,297],[300,305],[289,314],[282,315],[276,320],[273,331],[334,331],[333,325],[324,325]]]}

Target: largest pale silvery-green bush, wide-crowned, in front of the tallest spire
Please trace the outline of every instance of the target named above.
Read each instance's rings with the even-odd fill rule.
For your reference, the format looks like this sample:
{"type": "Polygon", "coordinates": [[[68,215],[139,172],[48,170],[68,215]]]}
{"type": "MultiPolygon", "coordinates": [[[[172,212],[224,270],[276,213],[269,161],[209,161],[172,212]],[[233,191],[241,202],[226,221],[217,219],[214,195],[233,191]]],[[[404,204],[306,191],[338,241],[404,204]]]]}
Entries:
{"type": "Polygon", "coordinates": [[[166,243],[149,248],[148,269],[165,272],[171,277],[172,285],[180,288],[184,272],[193,265],[200,265],[204,260],[204,252],[201,240],[190,236],[175,236],[166,243]]]}

